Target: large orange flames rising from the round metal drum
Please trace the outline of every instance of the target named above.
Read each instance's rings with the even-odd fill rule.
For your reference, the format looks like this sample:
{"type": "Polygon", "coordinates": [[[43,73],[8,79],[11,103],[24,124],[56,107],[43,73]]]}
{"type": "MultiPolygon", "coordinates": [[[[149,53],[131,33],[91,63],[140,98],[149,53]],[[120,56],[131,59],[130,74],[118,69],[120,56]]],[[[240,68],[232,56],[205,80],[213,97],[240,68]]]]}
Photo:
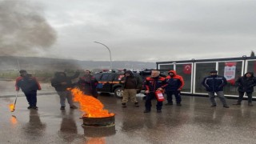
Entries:
{"type": "Polygon", "coordinates": [[[83,92],[77,88],[71,89],[71,93],[74,96],[74,102],[79,102],[80,110],[86,113],[83,117],[105,118],[114,115],[113,113],[109,113],[108,110],[104,110],[104,105],[97,98],[83,94],[83,92]]]}

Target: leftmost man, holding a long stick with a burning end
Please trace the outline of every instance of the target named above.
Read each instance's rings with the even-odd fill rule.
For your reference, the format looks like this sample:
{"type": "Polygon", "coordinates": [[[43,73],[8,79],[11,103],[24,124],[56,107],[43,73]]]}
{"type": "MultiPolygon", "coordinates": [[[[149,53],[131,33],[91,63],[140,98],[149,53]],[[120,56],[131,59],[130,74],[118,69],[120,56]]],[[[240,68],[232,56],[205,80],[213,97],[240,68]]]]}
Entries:
{"type": "Polygon", "coordinates": [[[16,78],[16,91],[22,89],[23,93],[26,95],[26,100],[29,102],[28,109],[38,109],[37,106],[37,90],[41,90],[41,86],[38,80],[27,74],[26,70],[20,70],[20,77],[16,78]]]}

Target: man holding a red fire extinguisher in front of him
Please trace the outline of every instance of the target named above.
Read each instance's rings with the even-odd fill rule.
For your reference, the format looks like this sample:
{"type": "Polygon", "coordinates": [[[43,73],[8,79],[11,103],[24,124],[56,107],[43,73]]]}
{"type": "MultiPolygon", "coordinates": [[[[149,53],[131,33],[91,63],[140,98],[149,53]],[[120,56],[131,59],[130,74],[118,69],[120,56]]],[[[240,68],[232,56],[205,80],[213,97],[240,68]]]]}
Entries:
{"type": "Polygon", "coordinates": [[[146,87],[146,102],[144,113],[149,113],[151,110],[151,100],[156,98],[157,102],[157,112],[161,113],[162,111],[162,100],[163,100],[163,89],[167,85],[166,78],[159,76],[160,72],[158,70],[152,70],[151,76],[147,77],[144,86],[146,87]],[[161,97],[161,98],[160,98],[161,97]]]}

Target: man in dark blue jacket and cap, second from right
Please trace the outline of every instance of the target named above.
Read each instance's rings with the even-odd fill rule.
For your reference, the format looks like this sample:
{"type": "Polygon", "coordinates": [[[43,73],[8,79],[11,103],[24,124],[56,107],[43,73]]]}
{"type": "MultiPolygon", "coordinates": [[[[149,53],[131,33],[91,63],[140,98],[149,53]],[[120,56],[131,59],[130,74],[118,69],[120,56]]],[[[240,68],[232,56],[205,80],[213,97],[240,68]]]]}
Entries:
{"type": "Polygon", "coordinates": [[[202,86],[206,87],[206,91],[209,94],[211,107],[217,106],[215,101],[214,93],[218,95],[218,98],[221,100],[223,107],[229,108],[226,104],[226,98],[224,97],[223,87],[226,86],[226,78],[217,74],[217,70],[211,70],[210,76],[207,76],[202,81],[202,86]]]}

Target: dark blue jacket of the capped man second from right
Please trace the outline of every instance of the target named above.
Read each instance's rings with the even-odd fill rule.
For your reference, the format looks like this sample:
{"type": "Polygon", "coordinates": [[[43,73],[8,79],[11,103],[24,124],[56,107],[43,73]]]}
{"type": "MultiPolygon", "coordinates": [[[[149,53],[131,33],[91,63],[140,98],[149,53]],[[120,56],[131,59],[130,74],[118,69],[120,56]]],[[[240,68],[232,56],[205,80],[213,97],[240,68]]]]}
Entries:
{"type": "Polygon", "coordinates": [[[206,90],[210,92],[223,91],[226,84],[226,78],[219,75],[210,75],[202,81],[202,86],[205,86],[206,90]]]}

